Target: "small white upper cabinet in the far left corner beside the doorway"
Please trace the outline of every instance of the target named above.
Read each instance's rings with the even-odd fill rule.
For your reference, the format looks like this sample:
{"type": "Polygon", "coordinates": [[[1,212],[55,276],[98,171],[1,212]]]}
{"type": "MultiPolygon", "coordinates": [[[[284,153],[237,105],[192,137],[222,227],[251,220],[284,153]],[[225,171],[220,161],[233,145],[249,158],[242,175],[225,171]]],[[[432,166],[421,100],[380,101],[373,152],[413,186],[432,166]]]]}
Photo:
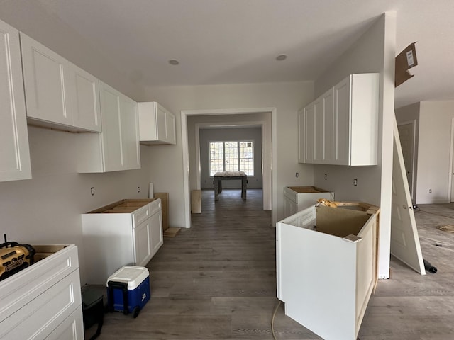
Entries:
{"type": "Polygon", "coordinates": [[[138,104],[140,143],[176,144],[175,115],[155,101],[138,104]]]}

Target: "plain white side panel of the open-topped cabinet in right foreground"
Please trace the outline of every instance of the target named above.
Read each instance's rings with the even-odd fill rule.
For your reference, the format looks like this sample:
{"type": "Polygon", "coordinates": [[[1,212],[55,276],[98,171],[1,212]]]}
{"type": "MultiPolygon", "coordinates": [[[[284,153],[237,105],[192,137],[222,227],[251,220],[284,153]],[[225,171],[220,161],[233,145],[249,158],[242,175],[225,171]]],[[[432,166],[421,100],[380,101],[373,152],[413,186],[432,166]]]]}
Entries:
{"type": "Polygon", "coordinates": [[[278,247],[285,314],[323,339],[353,339],[357,244],[281,223],[278,247]]]}

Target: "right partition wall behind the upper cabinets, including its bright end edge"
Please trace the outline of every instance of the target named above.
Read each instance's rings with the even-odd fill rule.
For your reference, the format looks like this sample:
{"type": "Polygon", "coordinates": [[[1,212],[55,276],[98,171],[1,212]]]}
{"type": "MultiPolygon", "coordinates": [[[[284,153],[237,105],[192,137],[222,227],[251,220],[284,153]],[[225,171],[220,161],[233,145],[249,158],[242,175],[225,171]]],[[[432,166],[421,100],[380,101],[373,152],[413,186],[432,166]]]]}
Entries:
{"type": "Polygon", "coordinates": [[[394,13],[385,13],[315,82],[319,96],[352,73],[380,73],[379,149],[377,166],[315,166],[316,186],[334,191],[336,200],[380,206],[379,277],[389,278],[392,198],[392,138],[394,128],[394,13]],[[325,181],[324,174],[328,174],[325,181]],[[358,179],[358,186],[353,186],[358,179]]]}

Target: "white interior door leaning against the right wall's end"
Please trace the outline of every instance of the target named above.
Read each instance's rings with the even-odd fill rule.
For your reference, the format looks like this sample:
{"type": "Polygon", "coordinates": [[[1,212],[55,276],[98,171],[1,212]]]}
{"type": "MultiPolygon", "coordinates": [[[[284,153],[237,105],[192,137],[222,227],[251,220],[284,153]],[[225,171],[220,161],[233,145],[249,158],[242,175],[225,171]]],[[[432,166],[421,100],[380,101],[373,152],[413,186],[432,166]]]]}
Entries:
{"type": "Polygon", "coordinates": [[[418,273],[426,275],[395,118],[393,144],[391,254],[418,273]]]}

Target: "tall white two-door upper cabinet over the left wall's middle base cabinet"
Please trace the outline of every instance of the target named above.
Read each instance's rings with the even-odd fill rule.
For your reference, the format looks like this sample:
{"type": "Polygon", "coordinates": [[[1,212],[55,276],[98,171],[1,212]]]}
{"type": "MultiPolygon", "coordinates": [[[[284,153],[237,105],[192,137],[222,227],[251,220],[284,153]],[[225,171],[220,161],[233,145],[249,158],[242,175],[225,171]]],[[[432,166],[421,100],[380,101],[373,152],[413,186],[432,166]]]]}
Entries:
{"type": "Polygon", "coordinates": [[[140,169],[137,103],[102,81],[99,92],[102,132],[77,136],[78,172],[140,169]]]}

